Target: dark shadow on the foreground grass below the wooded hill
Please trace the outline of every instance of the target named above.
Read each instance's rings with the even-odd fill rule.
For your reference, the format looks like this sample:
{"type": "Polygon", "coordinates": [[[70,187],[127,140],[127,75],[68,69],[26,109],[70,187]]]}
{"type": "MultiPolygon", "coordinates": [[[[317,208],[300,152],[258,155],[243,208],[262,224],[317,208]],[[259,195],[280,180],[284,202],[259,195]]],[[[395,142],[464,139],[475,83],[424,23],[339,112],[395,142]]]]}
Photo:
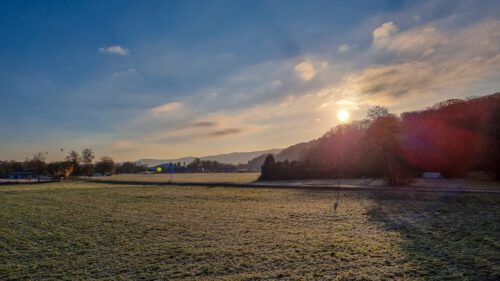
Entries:
{"type": "Polygon", "coordinates": [[[412,279],[500,280],[496,194],[373,193],[370,219],[396,232],[412,279]]]}

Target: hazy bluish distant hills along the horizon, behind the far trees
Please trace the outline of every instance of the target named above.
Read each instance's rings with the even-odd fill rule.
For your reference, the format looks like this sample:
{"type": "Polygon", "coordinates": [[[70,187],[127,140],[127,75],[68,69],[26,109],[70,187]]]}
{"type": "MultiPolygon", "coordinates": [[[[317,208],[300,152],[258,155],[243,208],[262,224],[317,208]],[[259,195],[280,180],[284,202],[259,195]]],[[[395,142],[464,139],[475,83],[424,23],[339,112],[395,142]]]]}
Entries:
{"type": "MultiPolygon", "coordinates": [[[[251,152],[233,152],[233,153],[227,153],[227,154],[219,154],[219,155],[209,155],[209,156],[204,156],[204,157],[199,157],[201,160],[210,160],[210,161],[217,161],[219,163],[227,163],[227,164],[246,164],[248,161],[252,160],[253,158],[256,158],[258,156],[261,156],[263,154],[278,154],[282,151],[282,149],[269,149],[269,150],[262,150],[262,151],[251,151],[251,152]]],[[[177,163],[181,162],[186,164],[189,164],[193,162],[193,160],[196,159],[196,157],[183,157],[183,158],[177,158],[177,159],[140,159],[136,161],[137,163],[140,164],[145,164],[148,165],[149,167],[160,165],[163,163],[177,163]]]]}

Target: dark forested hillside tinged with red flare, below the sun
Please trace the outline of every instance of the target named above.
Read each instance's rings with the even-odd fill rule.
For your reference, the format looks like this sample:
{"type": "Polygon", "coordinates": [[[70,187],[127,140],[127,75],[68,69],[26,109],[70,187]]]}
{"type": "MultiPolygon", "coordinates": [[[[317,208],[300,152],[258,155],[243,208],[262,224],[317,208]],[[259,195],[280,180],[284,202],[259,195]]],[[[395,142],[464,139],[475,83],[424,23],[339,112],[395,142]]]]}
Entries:
{"type": "Polygon", "coordinates": [[[339,171],[344,176],[436,171],[449,177],[471,172],[499,177],[500,93],[447,100],[400,116],[375,107],[367,119],[337,126],[281,154],[287,151],[292,157],[276,155],[282,171],[274,173],[290,176],[278,178],[335,177],[339,171]]]}

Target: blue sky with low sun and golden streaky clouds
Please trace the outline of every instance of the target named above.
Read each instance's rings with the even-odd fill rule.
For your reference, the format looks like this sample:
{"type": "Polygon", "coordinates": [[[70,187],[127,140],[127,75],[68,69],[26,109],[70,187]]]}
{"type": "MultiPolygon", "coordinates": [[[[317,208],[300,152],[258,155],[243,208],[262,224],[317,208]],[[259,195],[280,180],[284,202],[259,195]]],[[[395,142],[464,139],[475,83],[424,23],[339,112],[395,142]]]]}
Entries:
{"type": "Polygon", "coordinates": [[[0,0],[0,159],[285,148],[500,91],[500,1],[0,0]],[[61,149],[63,151],[61,151],[61,149]]]}

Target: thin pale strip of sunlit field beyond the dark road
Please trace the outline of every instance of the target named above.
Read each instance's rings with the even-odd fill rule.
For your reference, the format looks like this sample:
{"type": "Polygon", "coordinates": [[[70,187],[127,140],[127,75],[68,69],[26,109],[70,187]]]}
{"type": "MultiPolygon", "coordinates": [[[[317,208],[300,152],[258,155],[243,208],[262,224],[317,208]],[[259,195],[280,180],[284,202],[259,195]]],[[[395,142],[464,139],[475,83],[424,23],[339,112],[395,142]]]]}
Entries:
{"type": "MultiPolygon", "coordinates": [[[[175,182],[231,182],[247,183],[256,181],[260,173],[179,173],[173,174],[175,182]]],[[[170,174],[116,174],[110,177],[95,177],[95,180],[168,182],[170,174]]]]}

